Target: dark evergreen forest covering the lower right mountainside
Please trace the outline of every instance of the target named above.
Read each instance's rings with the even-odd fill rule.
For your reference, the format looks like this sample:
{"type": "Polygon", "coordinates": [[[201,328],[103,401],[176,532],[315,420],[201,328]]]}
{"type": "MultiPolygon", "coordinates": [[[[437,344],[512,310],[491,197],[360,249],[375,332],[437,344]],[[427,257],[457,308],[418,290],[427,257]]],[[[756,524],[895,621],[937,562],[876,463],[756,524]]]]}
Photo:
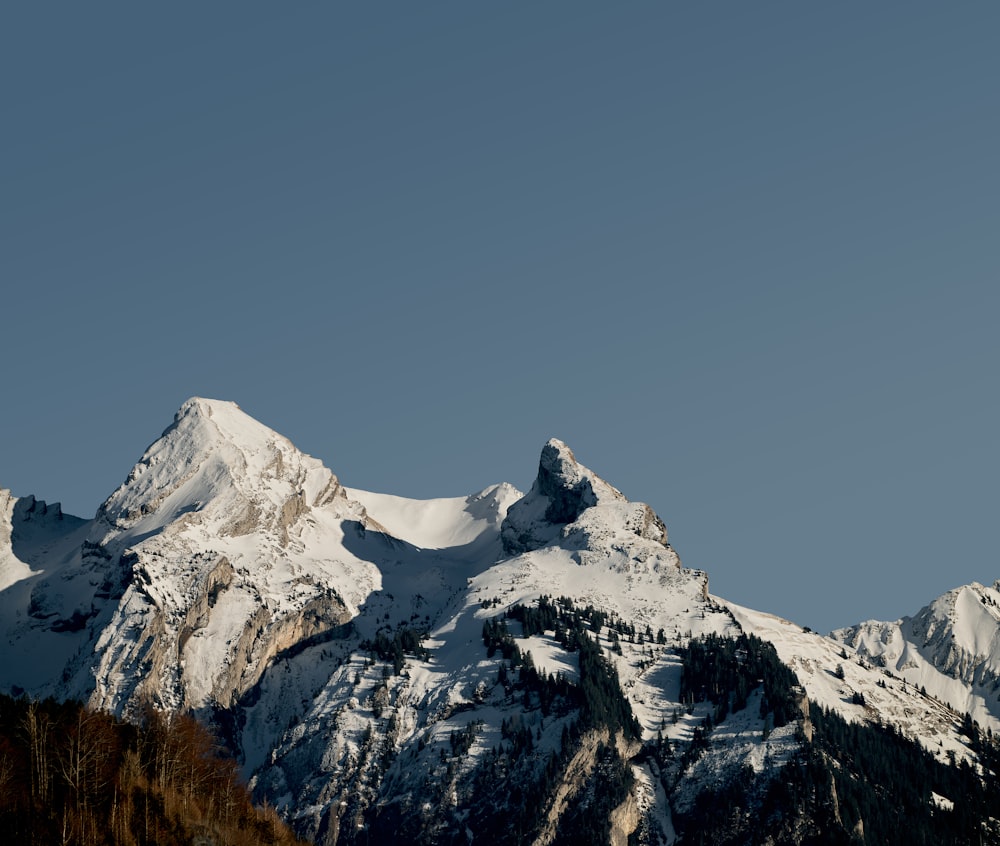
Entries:
{"type": "MultiPolygon", "coordinates": [[[[680,654],[682,697],[736,711],[762,684],[775,725],[796,716],[795,675],[771,644],[709,635],[680,654]]],[[[1000,748],[970,716],[960,729],[976,765],[940,760],[892,726],[848,722],[815,704],[810,720],[812,741],[800,736],[800,750],[780,768],[738,769],[690,811],[675,813],[680,846],[1000,844],[1000,748]]],[[[700,733],[704,742],[710,731],[700,733]]],[[[656,760],[666,769],[668,759],[669,751],[656,760]]]]}

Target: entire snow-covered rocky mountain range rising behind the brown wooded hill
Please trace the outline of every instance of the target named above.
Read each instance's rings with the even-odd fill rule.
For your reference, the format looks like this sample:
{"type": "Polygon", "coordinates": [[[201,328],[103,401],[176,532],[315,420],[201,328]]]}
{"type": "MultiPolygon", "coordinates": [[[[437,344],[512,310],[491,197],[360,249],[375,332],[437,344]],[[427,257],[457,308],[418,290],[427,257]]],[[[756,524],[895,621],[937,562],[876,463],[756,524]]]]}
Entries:
{"type": "MultiPolygon", "coordinates": [[[[688,842],[706,797],[766,809],[829,766],[835,719],[986,772],[963,716],[1000,727],[997,601],[973,585],[822,637],[712,596],[558,440],[526,494],[413,500],[343,487],[215,400],[93,520],[0,492],[0,690],[194,712],[331,844],[688,842]]],[[[727,831],[856,834],[841,777],[727,831]]],[[[940,816],[958,788],[934,778],[940,816]]]]}

